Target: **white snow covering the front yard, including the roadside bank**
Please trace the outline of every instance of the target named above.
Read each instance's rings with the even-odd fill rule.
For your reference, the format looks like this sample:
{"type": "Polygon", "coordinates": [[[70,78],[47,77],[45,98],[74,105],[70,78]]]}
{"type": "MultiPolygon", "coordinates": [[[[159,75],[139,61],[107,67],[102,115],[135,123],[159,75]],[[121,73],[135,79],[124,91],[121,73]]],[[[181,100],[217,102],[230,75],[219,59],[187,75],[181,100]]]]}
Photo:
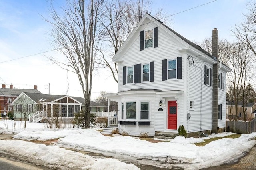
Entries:
{"type": "MultiPolygon", "coordinates": [[[[8,121],[8,126],[12,127],[8,121]]],[[[20,122],[18,122],[20,123],[20,122]]],[[[17,124],[17,121],[16,121],[17,124]]],[[[240,138],[222,138],[212,141],[205,146],[196,146],[194,143],[203,142],[204,139],[228,136],[232,133],[212,134],[204,138],[184,138],[178,136],[166,142],[151,143],[139,138],[116,135],[108,137],[100,134],[95,129],[47,129],[42,123],[29,123],[27,129],[6,129],[3,121],[0,121],[0,134],[15,133],[16,139],[22,140],[51,140],[58,138],[54,146],[32,144],[27,141],[0,140],[0,151],[28,156],[32,159],[40,159],[45,164],[60,164],[70,168],[92,169],[136,169],[132,164],[125,164],[116,159],[94,159],[74,151],[68,151],[61,147],[76,148],[77,150],[92,149],[102,152],[122,154],[136,158],[158,160],[166,163],[179,163],[184,169],[199,169],[208,166],[218,166],[225,162],[231,162],[256,143],[256,133],[242,134],[240,138]],[[2,147],[4,146],[4,147],[2,147]],[[67,156],[74,157],[67,159],[67,156]],[[110,166],[111,165],[111,166],[110,166]]]]}

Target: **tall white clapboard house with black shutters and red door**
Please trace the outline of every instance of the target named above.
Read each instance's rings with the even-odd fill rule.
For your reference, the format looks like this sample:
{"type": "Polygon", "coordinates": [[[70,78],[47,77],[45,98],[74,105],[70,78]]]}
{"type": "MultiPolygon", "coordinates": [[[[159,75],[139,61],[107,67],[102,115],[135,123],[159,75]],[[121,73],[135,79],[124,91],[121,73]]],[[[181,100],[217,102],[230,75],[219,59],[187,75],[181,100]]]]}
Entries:
{"type": "Polygon", "coordinates": [[[113,57],[118,93],[106,96],[118,102],[119,131],[154,136],[177,133],[180,125],[190,134],[224,131],[231,69],[216,57],[146,14],[113,57]]]}

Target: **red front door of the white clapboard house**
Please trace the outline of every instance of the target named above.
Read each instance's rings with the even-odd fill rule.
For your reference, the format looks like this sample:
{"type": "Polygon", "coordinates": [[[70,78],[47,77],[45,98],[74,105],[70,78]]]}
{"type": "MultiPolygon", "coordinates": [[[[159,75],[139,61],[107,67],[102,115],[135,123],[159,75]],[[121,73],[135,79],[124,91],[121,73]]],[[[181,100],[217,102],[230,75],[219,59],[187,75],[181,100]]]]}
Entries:
{"type": "Polygon", "coordinates": [[[177,130],[177,103],[176,101],[168,101],[168,129],[177,130]]]}

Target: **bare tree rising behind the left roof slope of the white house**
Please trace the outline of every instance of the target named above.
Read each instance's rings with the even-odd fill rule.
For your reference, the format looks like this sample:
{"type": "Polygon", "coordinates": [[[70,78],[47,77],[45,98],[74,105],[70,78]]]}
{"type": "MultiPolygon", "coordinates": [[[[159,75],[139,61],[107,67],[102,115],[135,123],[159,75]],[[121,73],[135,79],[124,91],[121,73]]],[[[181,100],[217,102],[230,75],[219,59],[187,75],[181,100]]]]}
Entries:
{"type": "MultiPolygon", "coordinates": [[[[151,13],[151,0],[112,0],[106,4],[106,12],[102,25],[104,26],[104,50],[100,50],[97,63],[100,67],[110,69],[112,77],[118,83],[118,65],[112,58],[121,45],[132,33],[138,22],[146,13],[151,13]]],[[[157,19],[163,18],[163,22],[170,22],[164,10],[159,9],[154,15],[157,19]]]]}

